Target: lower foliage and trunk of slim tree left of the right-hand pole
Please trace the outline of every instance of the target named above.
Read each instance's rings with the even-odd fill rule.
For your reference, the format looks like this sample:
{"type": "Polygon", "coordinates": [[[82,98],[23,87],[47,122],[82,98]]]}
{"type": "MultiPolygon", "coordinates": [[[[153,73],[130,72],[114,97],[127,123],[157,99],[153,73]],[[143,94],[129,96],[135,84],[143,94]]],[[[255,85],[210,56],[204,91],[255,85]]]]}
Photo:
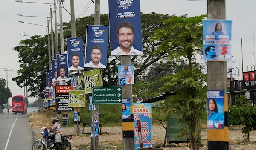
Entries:
{"type": "Polygon", "coordinates": [[[192,150],[199,150],[198,120],[206,113],[206,75],[201,70],[183,70],[176,74],[165,75],[160,78],[164,86],[160,90],[173,91],[176,95],[166,101],[168,108],[166,115],[177,114],[182,116],[180,122],[187,124],[191,136],[192,150]]]}

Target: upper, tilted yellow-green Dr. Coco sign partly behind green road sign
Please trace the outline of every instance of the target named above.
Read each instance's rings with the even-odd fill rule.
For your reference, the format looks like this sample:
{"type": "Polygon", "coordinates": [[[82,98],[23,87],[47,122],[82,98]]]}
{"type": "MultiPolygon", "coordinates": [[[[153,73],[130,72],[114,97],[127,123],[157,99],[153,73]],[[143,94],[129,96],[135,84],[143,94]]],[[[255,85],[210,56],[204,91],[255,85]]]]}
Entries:
{"type": "Polygon", "coordinates": [[[102,87],[102,74],[100,69],[84,72],[85,94],[92,92],[92,87],[102,87]]]}

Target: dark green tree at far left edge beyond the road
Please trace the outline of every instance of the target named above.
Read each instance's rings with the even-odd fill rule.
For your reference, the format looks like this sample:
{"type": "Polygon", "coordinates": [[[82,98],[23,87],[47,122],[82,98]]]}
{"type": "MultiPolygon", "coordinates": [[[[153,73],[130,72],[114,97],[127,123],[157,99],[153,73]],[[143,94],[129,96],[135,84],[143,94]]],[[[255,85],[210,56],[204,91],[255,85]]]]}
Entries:
{"type": "Polygon", "coordinates": [[[6,87],[5,79],[0,79],[0,111],[3,111],[4,104],[7,104],[9,98],[12,97],[12,92],[6,87]]]}

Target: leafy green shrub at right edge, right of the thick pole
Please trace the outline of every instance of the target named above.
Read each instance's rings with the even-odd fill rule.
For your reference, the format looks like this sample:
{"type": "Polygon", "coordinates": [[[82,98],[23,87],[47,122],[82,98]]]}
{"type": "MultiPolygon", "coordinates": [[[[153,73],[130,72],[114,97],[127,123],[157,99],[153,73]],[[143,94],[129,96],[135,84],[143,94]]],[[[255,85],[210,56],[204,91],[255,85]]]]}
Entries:
{"type": "Polygon", "coordinates": [[[246,96],[241,95],[233,106],[229,106],[229,124],[245,126],[242,128],[242,133],[245,133],[244,136],[247,136],[247,141],[250,141],[250,132],[256,130],[256,109],[244,104],[246,100],[246,96]]]}

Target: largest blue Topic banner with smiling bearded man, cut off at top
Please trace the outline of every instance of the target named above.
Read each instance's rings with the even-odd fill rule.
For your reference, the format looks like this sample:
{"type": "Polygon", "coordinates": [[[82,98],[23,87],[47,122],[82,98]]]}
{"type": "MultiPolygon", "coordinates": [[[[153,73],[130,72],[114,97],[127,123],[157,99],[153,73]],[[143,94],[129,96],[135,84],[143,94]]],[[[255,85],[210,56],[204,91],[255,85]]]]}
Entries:
{"type": "Polygon", "coordinates": [[[140,0],[108,0],[110,54],[141,55],[140,0]]]}

